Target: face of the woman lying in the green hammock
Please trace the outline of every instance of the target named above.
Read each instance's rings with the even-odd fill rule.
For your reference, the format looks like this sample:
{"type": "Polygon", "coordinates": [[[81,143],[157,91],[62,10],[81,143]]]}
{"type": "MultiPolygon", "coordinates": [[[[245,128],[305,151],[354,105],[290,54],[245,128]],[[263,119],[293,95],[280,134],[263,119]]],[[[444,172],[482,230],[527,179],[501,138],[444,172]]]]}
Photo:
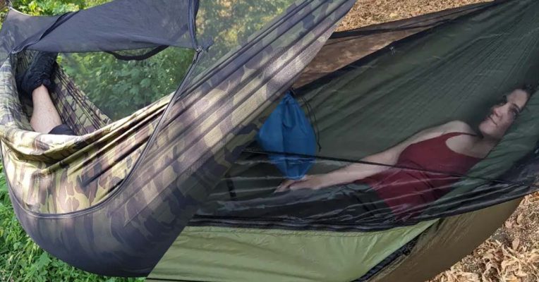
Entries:
{"type": "Polygon", "coordinates": [[[479,124],[483,137],[500,140],[511,126],[516,116],[520,114],[529,94],[524,90],[514,90],[504,97],[504,101],[490,108],[489,115],[479,124]]]}

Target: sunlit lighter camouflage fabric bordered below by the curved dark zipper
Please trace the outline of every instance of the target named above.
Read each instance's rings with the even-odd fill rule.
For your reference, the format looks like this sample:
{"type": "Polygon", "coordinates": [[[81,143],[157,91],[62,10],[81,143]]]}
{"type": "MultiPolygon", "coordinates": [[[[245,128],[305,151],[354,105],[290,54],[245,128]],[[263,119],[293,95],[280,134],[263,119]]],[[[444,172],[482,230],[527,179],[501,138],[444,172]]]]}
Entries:
{"type": "MultiPolygon", "coordinates": [[[[12,61],[24,69],[30,56],[18,54],[12,61]]],[[[58,69],[51,97],[63,122],[80,136],[35,133],[28,122],[31,103],[19,102],[13,73],[6,62],[0,73],[6,87],[2,104],[8,107],[2,121],[13,123],[0,125],[0,134],[8,181],[19,188],[12,190],[13,195],[25,209],[40,214],[76,212],[106,199],[140,154],[166,100],[107,125],[107,116],[58,69]]]]}

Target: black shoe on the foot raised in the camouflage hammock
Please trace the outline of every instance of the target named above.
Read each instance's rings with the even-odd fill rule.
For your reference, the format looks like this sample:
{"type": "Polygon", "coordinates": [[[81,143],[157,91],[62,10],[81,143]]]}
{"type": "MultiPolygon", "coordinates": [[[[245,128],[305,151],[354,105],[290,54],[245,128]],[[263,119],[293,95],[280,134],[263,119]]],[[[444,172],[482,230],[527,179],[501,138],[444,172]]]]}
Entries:
{"type": "Polygon", "coordinates": [[[41,85],[52,91],[51,76],[57,55],[57,53],[49,52],[35,54],[34,60],[30,63],[28,69],[16,78],[18,91],[27,97],[31,97],[32,92],[41,85]]]}

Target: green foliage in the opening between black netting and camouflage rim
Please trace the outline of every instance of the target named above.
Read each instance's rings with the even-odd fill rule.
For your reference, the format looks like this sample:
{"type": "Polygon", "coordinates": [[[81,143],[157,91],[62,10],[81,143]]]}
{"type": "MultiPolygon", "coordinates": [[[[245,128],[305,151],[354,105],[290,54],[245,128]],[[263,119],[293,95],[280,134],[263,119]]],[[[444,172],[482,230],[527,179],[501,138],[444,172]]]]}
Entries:
{"type": "MultiPolygon", "coordinates": [[[[138,57],[154,49],[115,52],[138,57]]],[[[195,51],[169,47],[144,60],[123,61],[104,52],[65,53],[59,63],[87,98],[117,121],[173,93],[195,51]]]]}

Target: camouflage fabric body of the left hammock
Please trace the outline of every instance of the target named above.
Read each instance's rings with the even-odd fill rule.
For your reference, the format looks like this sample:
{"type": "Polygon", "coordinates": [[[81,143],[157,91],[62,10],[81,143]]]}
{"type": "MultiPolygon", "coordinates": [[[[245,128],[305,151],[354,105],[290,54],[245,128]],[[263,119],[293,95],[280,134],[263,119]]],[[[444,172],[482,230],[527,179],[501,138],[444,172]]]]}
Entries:
{"type": "Polygon", "coordinates": [[[1,149],[25,230],[80,269],[148,274],[353,2],[298,1],[214,68],[188,80],[128,181],[170,96],[107,125],[59,71],[53,99],[82,135],[35,133],[13,80],[13,66],[24,66],[23,59],[6,61],[0,70],[1,149]]]}

